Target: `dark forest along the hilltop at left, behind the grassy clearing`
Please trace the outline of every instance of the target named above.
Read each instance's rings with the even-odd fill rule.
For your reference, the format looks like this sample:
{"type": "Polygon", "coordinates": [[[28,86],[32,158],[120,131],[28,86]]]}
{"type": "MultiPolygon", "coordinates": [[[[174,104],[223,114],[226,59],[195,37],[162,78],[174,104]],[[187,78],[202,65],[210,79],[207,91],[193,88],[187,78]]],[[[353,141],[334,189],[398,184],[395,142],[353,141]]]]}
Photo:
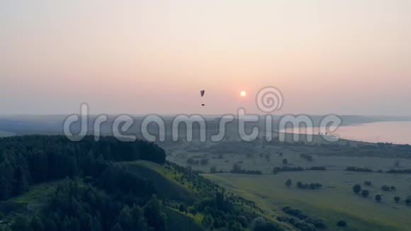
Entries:
{"type": "Polygon", "coordinates": [[[165,162],[162,148],[150,142],[120,142],[114,137],[86,136],[79,142],[64,136],[0,138],[0,201],[32,184],[74,176],[98,176],[107,162],[145,159],[165,162]]]}

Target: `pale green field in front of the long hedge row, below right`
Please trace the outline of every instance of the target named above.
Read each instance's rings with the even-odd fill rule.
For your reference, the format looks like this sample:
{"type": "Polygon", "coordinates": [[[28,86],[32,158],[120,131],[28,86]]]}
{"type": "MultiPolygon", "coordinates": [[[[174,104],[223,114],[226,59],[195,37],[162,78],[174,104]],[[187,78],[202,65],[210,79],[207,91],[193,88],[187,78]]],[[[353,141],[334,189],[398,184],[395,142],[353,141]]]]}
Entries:
{"type": "Polygon", "coordinates": [[[347,220],[348,227],[342,230],[409,230],[411,227],[411,207],[403,199],[411,195],[411,177],[390,174],[358,173],[347,171],[303,171],[281,172],[277,175],[205,174],[218,184],[252,199],[267,210],[281,214],[281,208],[291,205],[304,213],[325,220],[329,230],[338,230],[338,220],[347,220]],[[293,180],[287,188],[284,182],[293,180]],[[317,182],[323,188],[317,190],[300,189],[295,183],[317,182]],[[364,186],[364,181],[372,181],[373,186],[364,186]],[[370,191],[368,198],[352,192],[354,184],[361,184],[370,191]],[[396,186],[394,192],[383,192],[381,186],[396,186]],[[377,203],[375,195],[383,196],[377,203]],[[393,197],[402,201],[394,203],[393,197]]]}

